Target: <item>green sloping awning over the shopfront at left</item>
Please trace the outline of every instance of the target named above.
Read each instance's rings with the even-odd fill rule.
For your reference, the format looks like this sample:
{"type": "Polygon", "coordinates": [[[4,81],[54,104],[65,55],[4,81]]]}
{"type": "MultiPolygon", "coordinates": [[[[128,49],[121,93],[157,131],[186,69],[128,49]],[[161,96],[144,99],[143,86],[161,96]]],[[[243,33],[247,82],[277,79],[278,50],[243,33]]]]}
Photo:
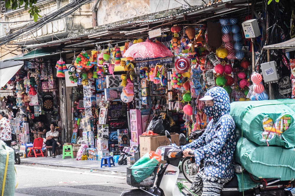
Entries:
{"type": "Polygon", "coordinates": [[[27,54],[24,54],[21,57],[15,57],[15,58],[12,58],[12,59],[9,59],[9,60],[25,61],[27,59],[48,57],[48,56],[67,54],[67,53],[72,53],[72,52],[74,52],[74,51],[71,50],[71,51],[56,52],[56,50],[50,50],[50,49],[36,49],[36,50],[33,50],[33,51],[31,51],[31,52],[29,52],[27,54]]]}

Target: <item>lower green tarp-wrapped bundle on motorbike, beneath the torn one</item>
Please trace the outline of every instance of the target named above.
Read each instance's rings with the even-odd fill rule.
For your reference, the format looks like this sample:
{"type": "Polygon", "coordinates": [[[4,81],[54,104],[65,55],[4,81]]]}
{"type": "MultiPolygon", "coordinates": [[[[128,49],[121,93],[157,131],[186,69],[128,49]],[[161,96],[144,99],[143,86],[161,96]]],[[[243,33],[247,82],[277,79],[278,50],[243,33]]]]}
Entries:
{"type": "Polygon", "coordinates": [[[260,146],[243,137],[238,139],[235,162],[259,178],[295,179],[295,148],[260,146]]]}

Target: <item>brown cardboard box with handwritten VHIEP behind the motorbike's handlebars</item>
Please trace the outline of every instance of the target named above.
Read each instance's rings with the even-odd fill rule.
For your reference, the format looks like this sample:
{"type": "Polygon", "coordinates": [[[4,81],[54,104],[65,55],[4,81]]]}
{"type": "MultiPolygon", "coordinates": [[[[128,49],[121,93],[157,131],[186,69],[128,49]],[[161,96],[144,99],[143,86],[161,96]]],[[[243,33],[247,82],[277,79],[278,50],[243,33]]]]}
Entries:
{"type": "MultiPolygon", "coordinates": [[[[179,134],[171,135],[171,142],[173,144],[179,145],[179,134]]],[[[148,137],[139,136],[140,143],[140,157],[150,152],[151,150],[156,151],[159,146],[166,146],[170,144],[169,139],[164,136],[148,137]]]]}

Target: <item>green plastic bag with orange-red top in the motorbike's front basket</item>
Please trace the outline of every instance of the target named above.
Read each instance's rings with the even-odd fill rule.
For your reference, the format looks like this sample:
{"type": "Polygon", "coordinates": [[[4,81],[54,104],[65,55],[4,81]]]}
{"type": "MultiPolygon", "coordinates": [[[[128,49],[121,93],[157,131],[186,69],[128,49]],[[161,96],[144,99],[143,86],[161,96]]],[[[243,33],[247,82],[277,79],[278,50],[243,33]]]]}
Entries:
{"type": "Polygon", "coordinates": [[[140,183],[142,180],[149,177],[153,173],[155,166],[158,165],[159,160],[161,160],[161,157],[158,156],[159,155],[156,155],[154,151],[151,151],[143,155],[137,162],[135,162],[134,165],[130,167],[130,169],[132,169],[132,179],[135,182],[140,183]]]}

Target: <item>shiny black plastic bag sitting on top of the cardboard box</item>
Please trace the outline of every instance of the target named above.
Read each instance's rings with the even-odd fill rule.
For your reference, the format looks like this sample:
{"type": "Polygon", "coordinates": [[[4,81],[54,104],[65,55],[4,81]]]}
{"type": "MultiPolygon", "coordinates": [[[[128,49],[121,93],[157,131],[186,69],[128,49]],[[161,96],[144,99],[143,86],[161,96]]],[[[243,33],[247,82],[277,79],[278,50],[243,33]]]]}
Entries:
{"type": "Polygon", "coordinates": [[[170,124],[168,120],[162,118],[162,115],[158,115],[150,121],[147,130],[152,130],[156,134],[165,135],[165,130],[170,132],[170,124]]]}

